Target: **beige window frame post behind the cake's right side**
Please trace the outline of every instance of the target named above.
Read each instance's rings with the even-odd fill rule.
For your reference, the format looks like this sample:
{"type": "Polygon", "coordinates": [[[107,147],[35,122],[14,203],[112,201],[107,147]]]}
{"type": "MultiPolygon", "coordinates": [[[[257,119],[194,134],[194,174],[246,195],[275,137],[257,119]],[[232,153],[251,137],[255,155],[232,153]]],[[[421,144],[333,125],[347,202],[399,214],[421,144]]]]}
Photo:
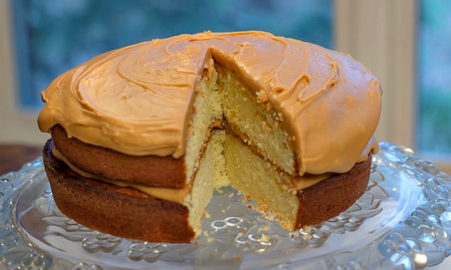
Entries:
{"type": "MultiPolygon", "coordinates": [[[[418,2],[335,0],[335,49],[350,53],[381,79],[378,141],[415,150],[418,2]],[[358,22],[358,23],[356,23],[358,22]]],[[[451,154],[417,152],[451,173],[451,154]]]]}

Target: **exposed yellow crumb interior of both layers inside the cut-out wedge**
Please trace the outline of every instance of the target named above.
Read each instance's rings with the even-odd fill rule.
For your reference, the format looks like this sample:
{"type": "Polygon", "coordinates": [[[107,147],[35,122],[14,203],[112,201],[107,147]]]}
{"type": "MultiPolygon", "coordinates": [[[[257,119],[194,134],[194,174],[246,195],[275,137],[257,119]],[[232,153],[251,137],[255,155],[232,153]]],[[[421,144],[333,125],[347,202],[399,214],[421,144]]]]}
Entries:
{"type": "Polygon", "coordinates": [[[299,177],[282,122],[230,70],[216,63],[211,74],[205,72],[185,155],[192,191],[184,204],[194,231],[199,233],[214,188],[228,184],[254,199],[261,212],[275,214],[285,229],[296,229],[299,199],[292,179],[299,177]]]}

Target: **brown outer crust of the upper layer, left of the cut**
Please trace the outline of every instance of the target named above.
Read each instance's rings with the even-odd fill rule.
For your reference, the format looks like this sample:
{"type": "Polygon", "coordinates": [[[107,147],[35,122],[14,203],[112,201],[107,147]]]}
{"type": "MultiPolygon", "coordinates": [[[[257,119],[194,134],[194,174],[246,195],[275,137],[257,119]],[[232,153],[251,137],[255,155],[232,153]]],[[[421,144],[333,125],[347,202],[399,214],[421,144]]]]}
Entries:
{"type": "Polygon", "coordinates": [[[51,138],[56,149],[71,164],[96,176],[166,188],[183,188],[186,185],[183,158],[132,156],[92,146],[74,137],[68,138],[59,124],[52,127],[51,138]]]}

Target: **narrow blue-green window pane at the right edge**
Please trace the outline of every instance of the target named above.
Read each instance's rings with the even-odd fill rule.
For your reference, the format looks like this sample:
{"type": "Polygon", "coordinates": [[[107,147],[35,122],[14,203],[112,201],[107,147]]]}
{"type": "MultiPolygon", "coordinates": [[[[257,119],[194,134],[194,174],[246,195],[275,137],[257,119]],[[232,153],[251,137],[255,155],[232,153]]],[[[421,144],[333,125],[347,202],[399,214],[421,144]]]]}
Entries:
{"type": "Polygon", "coordinates": [[[451,1],[419,1],[417,148],[451,153],[451,1]]]}

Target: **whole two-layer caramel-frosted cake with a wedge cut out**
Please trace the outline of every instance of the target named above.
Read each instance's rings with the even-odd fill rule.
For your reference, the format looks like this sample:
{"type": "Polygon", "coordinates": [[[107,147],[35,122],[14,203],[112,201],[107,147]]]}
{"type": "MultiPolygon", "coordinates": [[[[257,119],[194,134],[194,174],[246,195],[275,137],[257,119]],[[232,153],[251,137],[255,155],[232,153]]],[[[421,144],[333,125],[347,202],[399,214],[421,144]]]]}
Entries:
{"type": "Polygon", "coordinates": [[[378,150],[378,79],[350,56],[266,32],[110,51],[42,100],[56,205],[124,238],[189,242],[226,185],[287,230],[320,223],[364,193],[378,150]]]}

